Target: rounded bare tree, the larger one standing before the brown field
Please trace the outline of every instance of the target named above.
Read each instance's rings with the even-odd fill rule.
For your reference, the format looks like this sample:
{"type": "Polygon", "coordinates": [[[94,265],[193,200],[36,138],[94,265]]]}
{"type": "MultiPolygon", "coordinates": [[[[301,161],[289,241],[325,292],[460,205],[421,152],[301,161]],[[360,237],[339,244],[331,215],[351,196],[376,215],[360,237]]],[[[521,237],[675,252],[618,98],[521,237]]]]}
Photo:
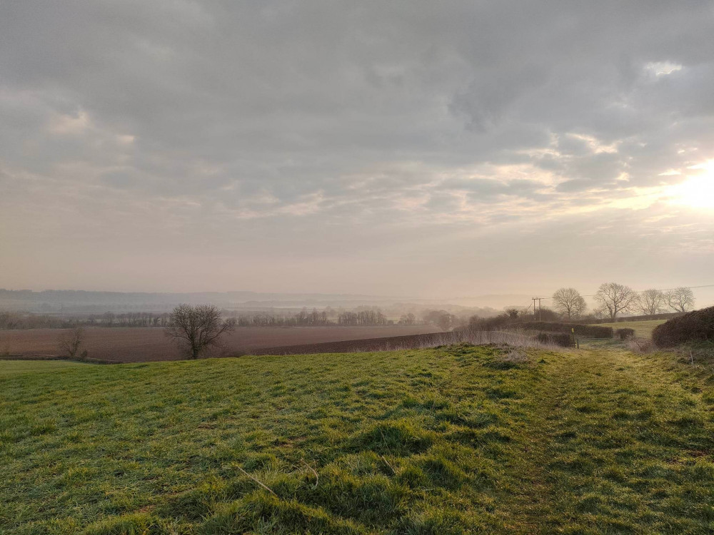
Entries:
{"type": "Polygon", "coordinates": [[[224,332],[236,328],[235,318],[221,321],[221,310],[213,305],[178,305],[169,315],[164,334],[174,338],[191,358],[197,359],[207,347],[218,345],[224,332]]]}

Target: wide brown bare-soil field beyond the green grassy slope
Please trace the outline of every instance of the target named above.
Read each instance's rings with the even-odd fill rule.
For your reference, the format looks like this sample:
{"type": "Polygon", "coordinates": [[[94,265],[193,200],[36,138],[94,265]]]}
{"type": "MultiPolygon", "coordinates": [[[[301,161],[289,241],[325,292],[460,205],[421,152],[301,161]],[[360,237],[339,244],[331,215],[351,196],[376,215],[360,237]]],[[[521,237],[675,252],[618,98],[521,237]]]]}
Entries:
{"type": "MultiPolygon", "coordinates": [[[[58,340],[68,333],[63,329],[0,331],[0,356],[57,355],[58,340]]],[[[421,335],[438,332],[429,325],[389,325],[383,327],[238,327],[223,338],[223,347],[211,350],[209,357],[246,353],[266,354],[284,346],[313,346],[321,342],[343,342],[383,337],[421,335]]],[[[146,362],[186,358],[164,330],[151,327],[88,327],[85,329],[88,357],[108,362],[146,362]]],[[[282,351],[281,351],[282,352],[282,351]]],[[[304,352],[304,351],[303,351],[304,352]]]]}

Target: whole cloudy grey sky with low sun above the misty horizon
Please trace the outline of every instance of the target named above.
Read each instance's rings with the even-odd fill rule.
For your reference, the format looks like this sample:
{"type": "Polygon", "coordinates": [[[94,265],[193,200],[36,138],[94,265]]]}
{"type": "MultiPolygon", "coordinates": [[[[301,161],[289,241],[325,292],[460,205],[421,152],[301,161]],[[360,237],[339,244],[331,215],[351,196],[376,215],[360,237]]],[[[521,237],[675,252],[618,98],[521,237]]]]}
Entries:
{"type": "Polygon", "coordinates": [[[0,287],[592,294],[713,267],[712,1],[0,3],[0,287]]]}

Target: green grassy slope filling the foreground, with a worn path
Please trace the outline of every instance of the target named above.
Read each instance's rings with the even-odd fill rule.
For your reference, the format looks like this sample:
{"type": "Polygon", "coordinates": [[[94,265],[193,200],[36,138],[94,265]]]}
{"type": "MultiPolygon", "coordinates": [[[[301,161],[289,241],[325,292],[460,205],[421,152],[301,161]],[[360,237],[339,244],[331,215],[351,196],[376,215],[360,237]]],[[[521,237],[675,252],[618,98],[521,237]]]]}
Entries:
{"type": "Polygon", "coordinates": [[[711,533],[711,370],[531,357],[0,362],[0,532],[711,533]]]}

